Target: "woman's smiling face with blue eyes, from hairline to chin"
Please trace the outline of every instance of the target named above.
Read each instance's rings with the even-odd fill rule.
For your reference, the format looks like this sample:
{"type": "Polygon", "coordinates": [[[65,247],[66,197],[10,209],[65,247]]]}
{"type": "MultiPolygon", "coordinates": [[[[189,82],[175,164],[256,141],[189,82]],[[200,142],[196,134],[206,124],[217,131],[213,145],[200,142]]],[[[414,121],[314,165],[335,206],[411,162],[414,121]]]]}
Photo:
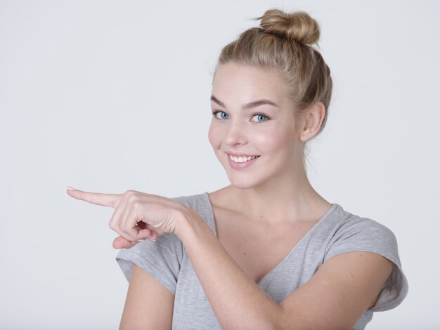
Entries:
{"type": "Polygon", "coordinates": [[[235,187],[282,183],[302,164],[303,143],[284,88],[275,70],[227,63],[216,71],[209,143],[235,187]]]}

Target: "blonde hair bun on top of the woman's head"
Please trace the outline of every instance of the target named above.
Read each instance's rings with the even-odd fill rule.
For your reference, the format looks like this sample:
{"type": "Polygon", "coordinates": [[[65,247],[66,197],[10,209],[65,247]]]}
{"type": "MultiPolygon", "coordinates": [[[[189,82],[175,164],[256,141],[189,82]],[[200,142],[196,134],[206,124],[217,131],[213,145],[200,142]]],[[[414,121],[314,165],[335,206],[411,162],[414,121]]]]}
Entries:
{"type": "Polygon", "coordinates": [[[305,11],[285,13],[279,9],[269,9],[255,20],[261,20],[261,29],[269,34],[299,44],[316,44],[319,39],[319,25],[305,11]]]}

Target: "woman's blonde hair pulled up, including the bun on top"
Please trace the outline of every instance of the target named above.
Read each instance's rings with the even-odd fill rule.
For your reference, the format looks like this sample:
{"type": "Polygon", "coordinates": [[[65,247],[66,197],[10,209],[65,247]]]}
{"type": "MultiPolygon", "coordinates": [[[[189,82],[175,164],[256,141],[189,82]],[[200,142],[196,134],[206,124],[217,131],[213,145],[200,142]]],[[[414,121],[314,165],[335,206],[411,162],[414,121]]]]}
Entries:
{"type": "Polygon", "coordinates": [[[285,13],[276,8],[252,20],[261,20],[260,27],[247,29],[224,46],[213,77],[217,68],[228,62],[277,70],[285,79],[297,123],[311,105],[318,101],[325,105],[321,133],[327,122],[332,78],[323,57],[312,46],[319,39],[318,22],[304,11],[285,13]]]}

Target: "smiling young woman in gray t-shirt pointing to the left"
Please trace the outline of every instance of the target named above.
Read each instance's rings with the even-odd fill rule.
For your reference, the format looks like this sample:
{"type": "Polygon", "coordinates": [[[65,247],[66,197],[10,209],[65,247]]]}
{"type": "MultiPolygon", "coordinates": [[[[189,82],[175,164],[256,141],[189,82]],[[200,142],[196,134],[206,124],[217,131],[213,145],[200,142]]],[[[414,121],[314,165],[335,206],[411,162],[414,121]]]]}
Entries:
{"type": "Polygon", "coordinates": [[[115,208],[120,329],[364,329],[406,296],[394,234],[306,176],[332,91],[318,24],[277,9],[258,19],[223,48],[212,83],[209,142],[231,185],[172,199],[68,190],[115,208]]]}

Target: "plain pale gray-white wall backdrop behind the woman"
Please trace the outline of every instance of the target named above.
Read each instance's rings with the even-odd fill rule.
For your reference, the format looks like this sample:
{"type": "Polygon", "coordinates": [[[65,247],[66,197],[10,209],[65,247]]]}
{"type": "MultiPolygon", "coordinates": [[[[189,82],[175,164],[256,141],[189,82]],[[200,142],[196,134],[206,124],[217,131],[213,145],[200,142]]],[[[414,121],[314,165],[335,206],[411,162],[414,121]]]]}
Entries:
{"type": "Polygon", "coordinates": [[[321,25],[334,90],[308,173],[397,237],[409,292],[368,329],[439,329],[438,1],[0,0],[0,329],[117,329],[112,209],[228,185],[207,139],[221,48],[268,8],[321,25]]]}

